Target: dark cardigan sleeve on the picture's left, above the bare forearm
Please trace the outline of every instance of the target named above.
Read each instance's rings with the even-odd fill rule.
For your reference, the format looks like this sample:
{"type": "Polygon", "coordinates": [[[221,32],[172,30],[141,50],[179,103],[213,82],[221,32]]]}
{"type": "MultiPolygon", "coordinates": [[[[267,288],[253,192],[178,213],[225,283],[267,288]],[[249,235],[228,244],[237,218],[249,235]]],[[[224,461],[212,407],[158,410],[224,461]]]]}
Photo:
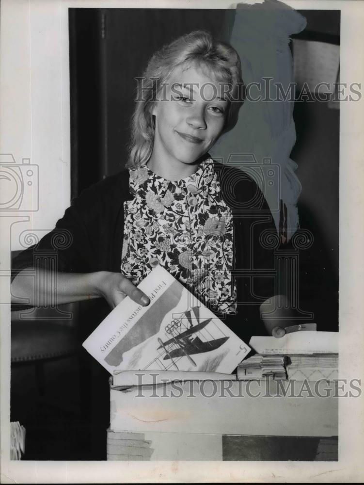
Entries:
{"type": "Polygon", "coordinates": [[[127,197],[125,170],[85,189],[52,231],[13,259],[12,281],[25,268],[34,275],[42,268],[62,273],[118,271],[127,197]]]}

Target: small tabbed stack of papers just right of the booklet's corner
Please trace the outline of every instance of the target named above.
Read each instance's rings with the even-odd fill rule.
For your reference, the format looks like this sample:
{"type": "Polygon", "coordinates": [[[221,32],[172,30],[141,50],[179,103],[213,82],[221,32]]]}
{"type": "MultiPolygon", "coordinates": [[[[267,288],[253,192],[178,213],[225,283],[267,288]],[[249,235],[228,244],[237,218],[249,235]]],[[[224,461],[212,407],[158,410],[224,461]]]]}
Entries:
{"type": "Polygon", "coordinates": [[[237,378],[250,380],[272,376],[274,379],[286,379],[285,363],[285,356],[255,355],[237,366],[237,378]]]}

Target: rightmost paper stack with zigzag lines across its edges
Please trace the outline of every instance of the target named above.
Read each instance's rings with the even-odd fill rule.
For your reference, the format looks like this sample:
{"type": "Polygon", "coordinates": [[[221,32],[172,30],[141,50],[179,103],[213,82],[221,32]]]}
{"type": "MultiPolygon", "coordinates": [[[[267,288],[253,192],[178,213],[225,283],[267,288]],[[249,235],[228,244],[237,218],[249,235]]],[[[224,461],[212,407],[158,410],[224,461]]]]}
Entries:
{"type": "Polygon", "coordinates": [[[338,354],[290,356],[287,365],[288,379],[296,381],[332,381],[338,378],[338,354]]]}

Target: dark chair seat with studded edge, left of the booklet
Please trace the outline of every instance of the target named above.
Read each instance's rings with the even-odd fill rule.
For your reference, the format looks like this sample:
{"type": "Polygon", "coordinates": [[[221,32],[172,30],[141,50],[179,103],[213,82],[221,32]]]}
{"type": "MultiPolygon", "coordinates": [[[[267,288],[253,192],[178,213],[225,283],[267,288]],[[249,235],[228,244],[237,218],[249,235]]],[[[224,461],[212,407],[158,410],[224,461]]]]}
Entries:
{"type": "Polygon", "coordinates": [[[62,357],[79,348],[69,321],[15,321],[11,324],[11,362],[62,357]]]}

